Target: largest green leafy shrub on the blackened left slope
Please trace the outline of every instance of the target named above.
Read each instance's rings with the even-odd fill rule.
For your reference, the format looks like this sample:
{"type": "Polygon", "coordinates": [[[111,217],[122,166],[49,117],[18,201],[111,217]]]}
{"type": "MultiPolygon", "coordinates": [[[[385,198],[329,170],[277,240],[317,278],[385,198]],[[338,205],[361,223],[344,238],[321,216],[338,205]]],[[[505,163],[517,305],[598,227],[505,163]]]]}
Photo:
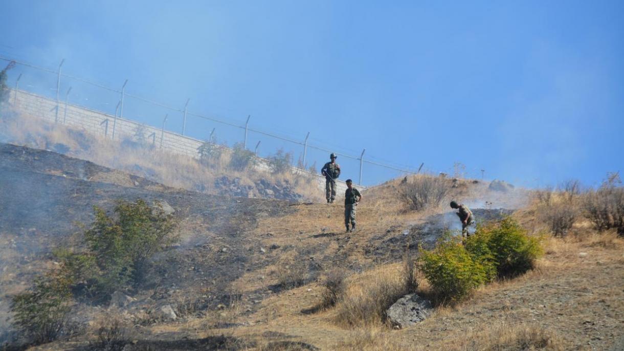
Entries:
{"type": "Polygon", "coordinates": [[[84,234],[87,252],[57,252],[66,277],[74,287],[83,285],[90,297],[106,297],[138,282],[147,261],[176,240],[172,219],[144,200],[118,201],[114,216],[97,206],[94,212],[95,221],[84,234]]]}

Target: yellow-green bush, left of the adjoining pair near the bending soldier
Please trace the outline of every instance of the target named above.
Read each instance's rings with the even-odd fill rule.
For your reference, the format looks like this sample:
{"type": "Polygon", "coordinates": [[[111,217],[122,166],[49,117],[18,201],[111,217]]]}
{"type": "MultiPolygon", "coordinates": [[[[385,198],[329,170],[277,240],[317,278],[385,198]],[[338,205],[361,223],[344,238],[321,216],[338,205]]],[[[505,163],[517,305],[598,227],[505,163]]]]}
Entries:
{"type": "Polygon", "coordinates": [[[441,241],[434,250],[420,251],[419,265],[437,302],[464,299],[490,280],[490,269],[474,259],[458,240],[441,241]]]}

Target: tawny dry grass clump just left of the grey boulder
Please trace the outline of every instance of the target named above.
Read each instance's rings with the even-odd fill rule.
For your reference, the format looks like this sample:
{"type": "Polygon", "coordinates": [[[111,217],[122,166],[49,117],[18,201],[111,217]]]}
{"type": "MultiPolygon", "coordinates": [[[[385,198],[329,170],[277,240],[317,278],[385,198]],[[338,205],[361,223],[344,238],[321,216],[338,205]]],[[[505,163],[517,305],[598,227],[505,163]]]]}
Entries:
{"type": "Polygon", "coordinates": [[[407,294],[402,278],[396,269],[369,272],[363,282],[350,286],[344,294],[336,322],[350,326],[385,322],[388,307],[407,294]]]}

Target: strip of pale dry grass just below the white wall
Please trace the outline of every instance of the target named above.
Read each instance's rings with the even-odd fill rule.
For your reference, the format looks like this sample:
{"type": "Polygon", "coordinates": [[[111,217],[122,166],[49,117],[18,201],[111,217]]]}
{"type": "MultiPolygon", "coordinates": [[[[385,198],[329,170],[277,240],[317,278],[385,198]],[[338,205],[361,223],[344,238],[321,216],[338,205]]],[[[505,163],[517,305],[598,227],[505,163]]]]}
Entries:
{"type": "MultiPolygon", "coordinates": [[[[170,187],[182,188],[220,195],[215,189],[215,180],[228,176],[240,178],[241,185],[253,185],[260,179],[270,182],[288,182],[294,191],[303,195],[306,200],[319,200],[321,189],[319,183],[310,175],[299,175],[291,172],[270,174],[256,169],[235,171],[230,164],[231,151],[225,149],[220,157],[209,161],[200,161],[195,157],[175,154],[158,147],[129,147],[127,143],[110,141],[110,139],[78,131],[60,124],[51,124],[37,117],[20,116],[13,121],[6,121],[1,126],[11,135],[14,142],[26,146],[48,149],[56,144],[63,144],[71,151],[69,156],[78,157],[102,166],[118,169],[129,174],[147,177],[170,187]]],[[[129,179],[104,177],[103,182],[132,186],[129,179]],[[108,179],[107,179],[108,178],[108,179]],[[114,178],[114,179],[113,179],[114,178]]],[[[249,197],[260,197],[252,189],[249,197]]]]}

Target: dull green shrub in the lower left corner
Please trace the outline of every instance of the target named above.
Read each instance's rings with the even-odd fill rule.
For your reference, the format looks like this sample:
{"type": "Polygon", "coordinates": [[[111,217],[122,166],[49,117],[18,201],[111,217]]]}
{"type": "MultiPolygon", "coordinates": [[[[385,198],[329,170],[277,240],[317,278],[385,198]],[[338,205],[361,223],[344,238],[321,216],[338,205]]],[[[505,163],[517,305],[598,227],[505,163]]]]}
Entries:
{"type": "Polygon", "coordinates": [[[70,302],[69,280],[57,274],[44,275],[30,290],[12,298],[14,323],[36,344],[51,342],[67,325],[70,302]]]}

